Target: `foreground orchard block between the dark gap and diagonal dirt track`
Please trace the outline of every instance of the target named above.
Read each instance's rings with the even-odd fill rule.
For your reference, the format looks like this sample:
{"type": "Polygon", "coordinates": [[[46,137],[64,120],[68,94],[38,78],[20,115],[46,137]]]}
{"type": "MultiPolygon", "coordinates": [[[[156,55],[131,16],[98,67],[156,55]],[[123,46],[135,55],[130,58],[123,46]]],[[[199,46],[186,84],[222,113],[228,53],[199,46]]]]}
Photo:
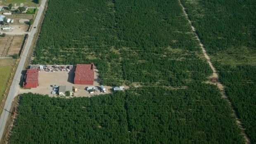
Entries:
{"type": "Polygon", "coordinates": [[[132,143],[244,143],[215,85],[140,87],[128,90],[126,106],[132,143]]]}

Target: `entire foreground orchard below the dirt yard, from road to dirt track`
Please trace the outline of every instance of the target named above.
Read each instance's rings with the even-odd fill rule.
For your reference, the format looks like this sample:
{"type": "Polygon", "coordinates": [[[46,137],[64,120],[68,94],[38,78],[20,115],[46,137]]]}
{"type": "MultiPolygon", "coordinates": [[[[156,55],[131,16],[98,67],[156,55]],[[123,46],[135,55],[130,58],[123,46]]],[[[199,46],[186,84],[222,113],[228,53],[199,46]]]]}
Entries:
{"type": "Polygon", "coordinates": [[[11,143],[244,143],[215,85],[83,98],[23,94],[11,143]]]}

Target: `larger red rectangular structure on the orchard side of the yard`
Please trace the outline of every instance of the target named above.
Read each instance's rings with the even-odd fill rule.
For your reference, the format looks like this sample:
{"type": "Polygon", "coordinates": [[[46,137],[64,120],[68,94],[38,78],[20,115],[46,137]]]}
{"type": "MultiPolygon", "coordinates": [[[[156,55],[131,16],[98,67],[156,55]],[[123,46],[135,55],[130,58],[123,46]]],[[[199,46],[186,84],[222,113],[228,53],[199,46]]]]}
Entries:
{"type": "Polygon", "coordinates": [[[93,85],[94,64],[77,64],[75,71],[74,84],[93,85]]]}

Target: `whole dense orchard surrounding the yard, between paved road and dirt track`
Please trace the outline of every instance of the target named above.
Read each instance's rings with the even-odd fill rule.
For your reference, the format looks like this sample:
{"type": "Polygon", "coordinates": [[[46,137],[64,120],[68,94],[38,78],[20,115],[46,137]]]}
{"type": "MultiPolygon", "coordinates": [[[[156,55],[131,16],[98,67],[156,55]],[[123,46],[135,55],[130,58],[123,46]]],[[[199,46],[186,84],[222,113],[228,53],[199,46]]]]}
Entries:
{"type": "Polygon", "coordinates": [[[12,143],[244,143],[217,87],[204,84],[212,71],[178,0],[48,4],[33,64],[94,62],[102,84],[142,87],[91,98],[24,94],[12,143]]]}

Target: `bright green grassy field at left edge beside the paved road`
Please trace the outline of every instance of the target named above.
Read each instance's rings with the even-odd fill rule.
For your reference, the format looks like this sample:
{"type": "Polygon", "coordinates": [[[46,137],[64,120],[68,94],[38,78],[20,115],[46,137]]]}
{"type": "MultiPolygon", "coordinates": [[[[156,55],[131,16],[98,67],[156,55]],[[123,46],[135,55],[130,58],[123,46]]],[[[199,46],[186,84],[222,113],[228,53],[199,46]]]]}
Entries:
{"type": "Polygon", "coordinates": [[[0,66],[0,101],[2,101],[11,71],[11,66],[0,66]]]}

